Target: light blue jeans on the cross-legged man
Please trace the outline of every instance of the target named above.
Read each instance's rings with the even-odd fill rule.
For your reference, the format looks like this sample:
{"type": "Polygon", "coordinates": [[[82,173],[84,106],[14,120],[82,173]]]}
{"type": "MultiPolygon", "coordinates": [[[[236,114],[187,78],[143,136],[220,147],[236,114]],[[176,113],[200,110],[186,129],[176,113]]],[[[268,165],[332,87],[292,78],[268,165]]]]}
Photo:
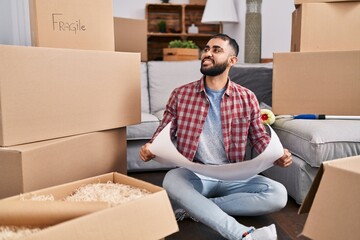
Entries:
{"type": "Polygon", "coordinates": [[[257,216],[282,209],[285,187],[264,176],[221,181],[185,168],[170,170],[163,187],[175,204],[227,239],[241,239],[249,230],[232,216],[257,216]]]}

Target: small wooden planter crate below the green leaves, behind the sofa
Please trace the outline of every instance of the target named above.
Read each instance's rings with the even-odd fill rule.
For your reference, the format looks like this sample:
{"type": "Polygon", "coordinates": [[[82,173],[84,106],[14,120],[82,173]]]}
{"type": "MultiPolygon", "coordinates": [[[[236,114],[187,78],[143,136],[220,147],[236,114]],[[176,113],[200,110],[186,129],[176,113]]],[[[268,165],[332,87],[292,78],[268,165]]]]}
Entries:
{"type": "Polygon", "coordinates": [[[164,61],[198,60],[199,50],[192,48],[164,48],[164,61]]]}

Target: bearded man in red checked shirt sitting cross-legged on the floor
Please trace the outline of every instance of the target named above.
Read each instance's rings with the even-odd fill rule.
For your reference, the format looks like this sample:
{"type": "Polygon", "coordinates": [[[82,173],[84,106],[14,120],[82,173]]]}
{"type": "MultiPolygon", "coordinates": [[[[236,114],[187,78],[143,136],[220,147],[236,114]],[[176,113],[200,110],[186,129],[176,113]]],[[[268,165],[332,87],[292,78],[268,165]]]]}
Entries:
{"type": "MultiPolygon", "coordinates": [[[[264,151],[270,137],[261,122],[256,96],[228,77],[238,52],[236,41],[225,34],[208,41],[201,55],[203,77],[172,92],[161,124],[139,152],[143,161],[155,157],[149,146],[169,122],[179,152],[190,161],[202,164],[243,161],[248,139],[258,153],[264,151]]],[[[291,163],[291,154],[286,149],[274,162],[281,167],[291,163]]],[[[255,229],[240,224],[232,216],[261,215],[283,208],[287,192],[278,182],[260,175],[243,181],[221,181],[175,168],[166,174],[163,186],[184,209],[180,213],[198,219],[227,239],[277,238],[274,224],[255,229]]]]}

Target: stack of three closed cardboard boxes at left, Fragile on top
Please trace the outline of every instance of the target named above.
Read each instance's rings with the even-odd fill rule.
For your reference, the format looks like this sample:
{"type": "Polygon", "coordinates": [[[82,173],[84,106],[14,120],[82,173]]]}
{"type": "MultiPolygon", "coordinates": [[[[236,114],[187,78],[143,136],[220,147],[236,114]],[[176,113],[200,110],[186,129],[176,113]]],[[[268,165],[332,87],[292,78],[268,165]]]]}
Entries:
{"type": "Polygon", "coordinates": [[[112,1],[30,1],[34,47],[0,46],[0,198],[126,173],[140,54],[114,51],[112,1]]]}

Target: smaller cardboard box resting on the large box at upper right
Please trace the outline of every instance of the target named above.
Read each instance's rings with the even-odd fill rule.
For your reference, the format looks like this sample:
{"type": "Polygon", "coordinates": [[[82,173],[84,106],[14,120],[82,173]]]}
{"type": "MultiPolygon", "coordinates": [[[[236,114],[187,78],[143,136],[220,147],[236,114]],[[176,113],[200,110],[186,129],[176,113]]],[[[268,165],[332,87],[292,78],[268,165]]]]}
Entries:
{"type": "Polygon", "coordinates": [[[360,50],[360,2],[304,3],[293,12],[291,51],[360,50]]]}

